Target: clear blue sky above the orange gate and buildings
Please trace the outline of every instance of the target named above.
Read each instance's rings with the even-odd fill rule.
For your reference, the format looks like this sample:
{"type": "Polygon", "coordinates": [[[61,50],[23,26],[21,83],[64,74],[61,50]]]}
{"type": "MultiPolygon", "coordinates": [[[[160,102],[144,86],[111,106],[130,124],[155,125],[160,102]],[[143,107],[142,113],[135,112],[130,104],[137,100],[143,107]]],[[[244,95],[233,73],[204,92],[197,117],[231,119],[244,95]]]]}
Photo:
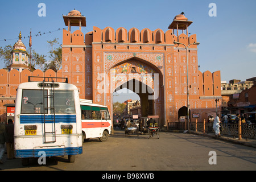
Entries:
{"type": "MultiPolygon", "coordinates": [[[[63,15],[76,9],[86,16],[82,32],[92,31],[93,26],[104,29],[113,27],[157,28],[164,32],[177,14],[185,13],[193,21],[188,32],[197,35],[200,71],[221,71],[221,80],[227,81],[256,77],[256,1],[255,0],[73,0],[73,1],[1,1],[0,47],[13,46],[22,32],[22,42],[29,48],[32,30],[32,49],[48,55],[47,40],[59,38],[62,43],[63,15]],[[22,3],[23,2],[23,3],[22,3]],[[46,16],[40,3],[46,5],[46,16]],[[210,6],[216,5],[216,9],[210,6]],[[38,7],[39,6],[39,7],[38,7]],[[216,10],[216,11],[213,11],[216,10]],[[216,13],[216,16],[209,15],[216,13]],[[60,28],[60,30],[59,30],[60,28]],[[38,34],[41,32],[41,35],[38,34]],[[51,32],[51,33],[50,33],[51,32]],[[45,34],[43,34],[45,33],[45,34]],[[39,36],[35,36],[38,34],[39,36]],[[6,39],[6,41],[4,40],[6,39]]],[[[76,29],[72,27],[71,31],[76,29]]],[[[4,68],[0,60],[0,69],[4,68]]]]}

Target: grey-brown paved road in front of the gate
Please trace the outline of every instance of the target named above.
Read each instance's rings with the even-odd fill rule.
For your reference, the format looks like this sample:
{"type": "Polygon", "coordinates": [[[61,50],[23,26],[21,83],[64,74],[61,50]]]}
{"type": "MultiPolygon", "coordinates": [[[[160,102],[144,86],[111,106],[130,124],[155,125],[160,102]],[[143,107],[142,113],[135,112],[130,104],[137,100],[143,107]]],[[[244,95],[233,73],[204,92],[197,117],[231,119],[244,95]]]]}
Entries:
{"type": "MultiPolygon", "coordinates": [[[[67,158],[37,160],[22,167],[20,159],[5,160],[2,170],[86,170],[86,171],[171,171],[171,170],[256,170],[256,149],[195,134],[160,133],[160,139],[115,131],[107,142],[90,139],[75,163],[67,158]],[[216,152],[217,164],[209,164],[210,151],[216,152]]],[[[214,160],[210,160],[214,161],[214,160]]]]}

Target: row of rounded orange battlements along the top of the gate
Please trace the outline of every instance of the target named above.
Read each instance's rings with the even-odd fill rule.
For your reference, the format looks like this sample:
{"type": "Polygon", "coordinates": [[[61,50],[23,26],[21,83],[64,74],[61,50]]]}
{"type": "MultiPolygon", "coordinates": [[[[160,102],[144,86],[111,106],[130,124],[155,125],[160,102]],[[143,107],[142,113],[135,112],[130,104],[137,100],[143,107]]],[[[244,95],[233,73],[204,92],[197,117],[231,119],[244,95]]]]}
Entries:
{"type": "MultiPolygon", "coordinates": [[[[120,27],[115,31],[112,27],[106,27],[101,30],[98,27],[93,27],[93,31],[88,32],[85,37],[80,30],[71,33],[63,30],[63,45],[92,45],[94,42],[100,43],[143,43],[143,44],[174,44],[174,40],[184,43],[185,45],[196,42],[196,34],[187,36],[180,34],[178,37],[174,35],[174,30],[170,29],[164,33],[161,29],[151,31],[144,28],[139,31],[137,28],[131,28],[129,31],[126,28],[120,27]]],[[[178,47],[184,47],[182,45],[178,47]]],[[[196,45],[191,45],[190,48],[197,48],[196,45]]]]}

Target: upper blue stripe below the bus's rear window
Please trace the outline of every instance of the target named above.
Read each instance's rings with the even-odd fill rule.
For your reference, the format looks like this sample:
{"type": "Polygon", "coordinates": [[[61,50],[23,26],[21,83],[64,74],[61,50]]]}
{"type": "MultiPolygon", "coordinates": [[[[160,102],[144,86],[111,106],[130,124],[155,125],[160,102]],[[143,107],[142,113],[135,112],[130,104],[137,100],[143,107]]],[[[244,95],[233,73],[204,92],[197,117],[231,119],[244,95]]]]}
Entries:
{"type": "MultiPolygon", "coordinates": [[[[54,119],[53,115],[46,115],[46,120],[54,119]]],[[[20,124],[43,123],[44,115],[20,115],[20,124]]],[[[46,121],[46,123],[52,121],[46,121]]],[[[76,115],[55,115],[56,123],[76,123],[76,115]]]]}

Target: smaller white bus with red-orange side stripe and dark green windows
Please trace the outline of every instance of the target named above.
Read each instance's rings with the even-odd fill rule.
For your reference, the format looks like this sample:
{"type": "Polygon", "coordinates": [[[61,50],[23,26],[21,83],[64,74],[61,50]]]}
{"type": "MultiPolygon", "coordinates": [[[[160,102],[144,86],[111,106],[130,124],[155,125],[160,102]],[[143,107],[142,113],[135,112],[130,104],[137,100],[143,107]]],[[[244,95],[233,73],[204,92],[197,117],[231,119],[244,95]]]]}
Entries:
{"type": "Polygon", "coordinates": [[[105,142],[111,134],[112,121],[108,107],[93,104],[91,100],[80,100],[83,140],[99,138],[105,142]]]}

